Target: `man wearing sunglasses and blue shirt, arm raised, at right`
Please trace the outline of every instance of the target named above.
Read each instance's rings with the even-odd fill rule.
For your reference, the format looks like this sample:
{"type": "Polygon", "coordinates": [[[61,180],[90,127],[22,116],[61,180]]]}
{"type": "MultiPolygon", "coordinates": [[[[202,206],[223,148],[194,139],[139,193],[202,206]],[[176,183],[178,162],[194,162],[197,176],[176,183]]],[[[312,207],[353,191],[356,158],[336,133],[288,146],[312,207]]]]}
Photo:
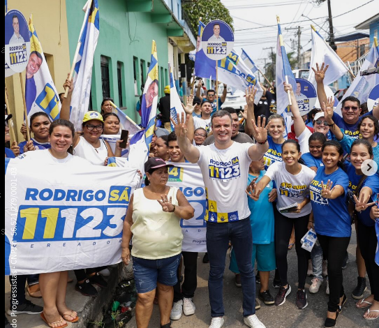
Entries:
{"type": "MultiPolygon", "coordinates": [[[[322,63],[321,68],[319,68],[318,64],[316,64],[316,69],[312,68],[313,72],[315,73],[315,80],[317,82],[317,95],[321,107],[323,107],[323,103],[327,103],[327,94],[325,93],[324,89],[324,77],[328,67],[328,65],[324,67],[324,63],[322,63]]],[[[333,121],[337,126],[343,128],[343,133],[345,133],[345,135],[350,135],[356,139],[359,139],[359,121],[362,121],[362,119],[367,115],[373,115],[377,119],[379,118],[378,110],[371,110],[370,112],[367,112],[366,114],[360,116],[362,112],[361,103],[358,98],[355,98],[353,96],[348,96],[342,100],[341,112],[342,117],[334,112],[333,121]]]]}

